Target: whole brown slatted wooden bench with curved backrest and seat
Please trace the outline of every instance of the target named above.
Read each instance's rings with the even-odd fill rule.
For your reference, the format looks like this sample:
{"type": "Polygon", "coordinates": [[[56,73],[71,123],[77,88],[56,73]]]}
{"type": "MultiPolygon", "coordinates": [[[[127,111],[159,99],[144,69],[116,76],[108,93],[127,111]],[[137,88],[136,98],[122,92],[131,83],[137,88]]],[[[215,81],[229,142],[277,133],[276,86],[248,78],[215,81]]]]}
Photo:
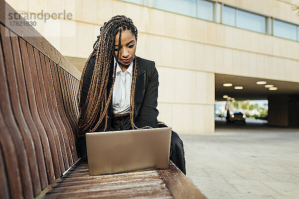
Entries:
{"type": "Polygon", "coordinates": [[[4,0],[0,9],[1,199],[205,199],[171,162],[165,170],[89,176],[76,152],[81,73],[33,27],[5,26],[15,10],[4,0]]]}

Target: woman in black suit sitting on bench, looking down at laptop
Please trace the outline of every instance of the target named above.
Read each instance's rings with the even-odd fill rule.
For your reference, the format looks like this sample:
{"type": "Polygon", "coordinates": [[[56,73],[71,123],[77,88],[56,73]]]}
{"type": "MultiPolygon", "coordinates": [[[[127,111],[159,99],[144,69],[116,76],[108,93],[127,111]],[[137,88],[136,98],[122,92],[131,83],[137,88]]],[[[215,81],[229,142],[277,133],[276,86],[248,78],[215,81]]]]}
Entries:
{"type": "MultiPolygon", "coordinates": [[[[79,86],[78,154],[87,160],[86,132],[166,127],[157,121],[158,73],[153,61],[135,55],[138,31],[126,16],[100,29],[79,86]]],[[[169,159],[184,173],[183,142],[171,132],[169,159]]]]}

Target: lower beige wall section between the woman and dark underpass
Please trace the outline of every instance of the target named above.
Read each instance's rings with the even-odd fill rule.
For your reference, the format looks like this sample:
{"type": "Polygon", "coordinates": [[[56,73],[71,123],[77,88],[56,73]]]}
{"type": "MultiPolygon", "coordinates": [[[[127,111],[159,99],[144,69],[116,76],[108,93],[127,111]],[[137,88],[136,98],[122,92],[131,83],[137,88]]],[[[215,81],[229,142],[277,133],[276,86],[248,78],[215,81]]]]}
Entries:
{"type": "Polygon", "coordinates": [[[214,132],[214,73],[157,66],[158,120],[179,133],[214,132]]]}

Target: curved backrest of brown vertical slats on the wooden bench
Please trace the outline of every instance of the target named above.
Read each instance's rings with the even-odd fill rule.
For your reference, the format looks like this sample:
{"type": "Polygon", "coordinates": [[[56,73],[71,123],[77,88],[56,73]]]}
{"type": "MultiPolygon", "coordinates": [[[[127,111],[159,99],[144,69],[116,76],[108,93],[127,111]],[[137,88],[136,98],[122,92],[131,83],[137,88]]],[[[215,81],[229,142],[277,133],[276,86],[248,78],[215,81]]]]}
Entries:
{"type": "Polygon", "coordinates": [[[46,54],[0,20],[1,199],[38,196],[78,160],[79,81],[46,54]]]}

